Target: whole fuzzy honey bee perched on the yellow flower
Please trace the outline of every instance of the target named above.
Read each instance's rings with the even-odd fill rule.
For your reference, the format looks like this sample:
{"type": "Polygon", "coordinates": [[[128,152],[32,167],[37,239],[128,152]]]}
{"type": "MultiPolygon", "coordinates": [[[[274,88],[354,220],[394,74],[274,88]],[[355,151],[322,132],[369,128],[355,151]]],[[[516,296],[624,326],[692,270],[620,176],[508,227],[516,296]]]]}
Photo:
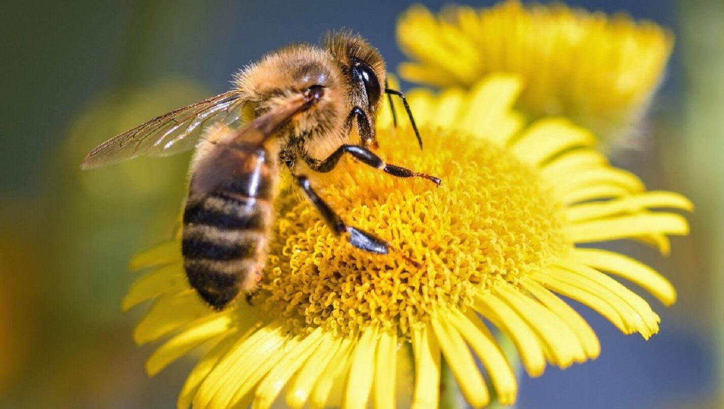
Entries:
{"type": "Polygon", "coordinates": [[[386,75],[379,51],[363,38],[329,33],[321,46],[299,44],[266,54],[235,76],[232,90],[117,135],[88,153],[81,167],[195,148],[183,213],[184,269],[198,295],[222,310],[240,292],[253,294],[261,280],[281,169],[335,235],[378,254],[387,254],[390,245],[345,224],[306,174],[330,172],[348,154],[395,177],[440,184],[429,174],[386,164],[370,149],[376,147],[383,93],[390,102],[402,98],[422,148],[407,100],[387,88],[386,75]]]}

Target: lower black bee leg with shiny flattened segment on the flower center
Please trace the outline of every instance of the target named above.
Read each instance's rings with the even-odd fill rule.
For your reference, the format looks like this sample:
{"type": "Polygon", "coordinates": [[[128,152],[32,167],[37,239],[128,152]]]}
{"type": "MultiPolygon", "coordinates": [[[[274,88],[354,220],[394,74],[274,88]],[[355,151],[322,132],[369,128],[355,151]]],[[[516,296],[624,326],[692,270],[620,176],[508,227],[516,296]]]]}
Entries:
{"type": "Polygon", "coordinates": [[[360,229],[355,229],[355,227],[348,226],[345,224],[345,222],[342,222],[340,216],[334,213],[332,208],[330,208],[327,203],[324,203],[319,195],[317,195],[316,192],[312,189],[311,184],[309,183],[309,180],[306,176],[295,175],[295,179],[297,180],[297,184],[299,185],[299,187],[307,195],[307,198],[309,198],[309,201],[312,202],[314,207],[317,208],[321,216],[324,218],[324,221],[327,222],[327,224],[329,224],[329,227],[332,228],[334,234],[342,235],[343,233],[347,233],[347,240],[350,242],[351,245],[355,246],[356,248],[369,251],[369,253],[388,253],[388,248],[390,247],[390,245],[386,241],[382,240],[379,237],[376,237],[371,233],[364,232],[360,229]]]}

